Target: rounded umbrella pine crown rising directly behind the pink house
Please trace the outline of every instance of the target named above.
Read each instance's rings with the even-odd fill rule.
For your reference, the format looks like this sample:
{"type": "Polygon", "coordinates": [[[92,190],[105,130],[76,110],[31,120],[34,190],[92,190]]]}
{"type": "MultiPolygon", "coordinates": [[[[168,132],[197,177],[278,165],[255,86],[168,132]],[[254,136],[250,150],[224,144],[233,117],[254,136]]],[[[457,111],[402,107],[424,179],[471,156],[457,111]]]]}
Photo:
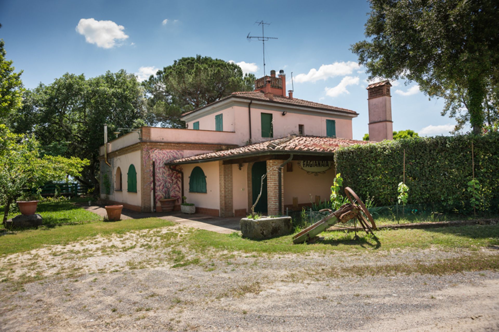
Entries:
{"type": "Polygon", "coordinates": [[[164,127],[183,128],[183,113],[220,100],[233,92],[251,91],[255,76],[243,75],[235,63],[197,55],[174,63],[145,81],[151,96],[148,107],[153,123],[164,127]]]}

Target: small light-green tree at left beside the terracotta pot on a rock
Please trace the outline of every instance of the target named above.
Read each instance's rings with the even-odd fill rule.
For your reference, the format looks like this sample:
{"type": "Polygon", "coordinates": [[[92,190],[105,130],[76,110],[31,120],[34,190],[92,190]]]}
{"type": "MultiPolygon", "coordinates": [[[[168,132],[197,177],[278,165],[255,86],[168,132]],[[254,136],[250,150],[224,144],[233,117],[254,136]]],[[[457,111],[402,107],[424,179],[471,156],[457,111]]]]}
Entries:
{"type": "Polygon", "coordinates": [[[40,145],[31,135],[17,135],[0,124],[0,202],[4,205],[3,224],[10,204],[23,192],[39,188],[47,181],[79,176],[88,160],[75,157],[41,156],[40,145]]]}

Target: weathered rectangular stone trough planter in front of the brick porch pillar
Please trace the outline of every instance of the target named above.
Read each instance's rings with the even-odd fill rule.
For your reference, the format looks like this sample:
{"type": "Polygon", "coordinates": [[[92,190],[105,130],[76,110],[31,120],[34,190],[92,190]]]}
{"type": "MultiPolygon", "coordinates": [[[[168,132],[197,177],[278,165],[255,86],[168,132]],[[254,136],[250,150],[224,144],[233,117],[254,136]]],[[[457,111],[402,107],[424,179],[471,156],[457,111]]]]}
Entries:
{"type": "Polygon", "coordinates": [[[260,219],[243,218],[239,222],[244,237],[253,240],[268,239],[287,235],[292,232],[291,217],[261,217],[260,219]]]}

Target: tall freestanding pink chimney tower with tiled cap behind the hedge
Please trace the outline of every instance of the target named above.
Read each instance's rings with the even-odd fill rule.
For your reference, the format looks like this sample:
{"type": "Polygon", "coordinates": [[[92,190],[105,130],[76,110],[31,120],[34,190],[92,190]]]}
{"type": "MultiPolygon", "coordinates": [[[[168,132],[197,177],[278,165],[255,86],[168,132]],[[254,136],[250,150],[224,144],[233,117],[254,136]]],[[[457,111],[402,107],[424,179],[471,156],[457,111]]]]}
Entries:
{"type": "Polygon", "coordinates": [[[369,105],[369,141],[393,140],[392,96],[389,80],[367,86],[369,105]]]}

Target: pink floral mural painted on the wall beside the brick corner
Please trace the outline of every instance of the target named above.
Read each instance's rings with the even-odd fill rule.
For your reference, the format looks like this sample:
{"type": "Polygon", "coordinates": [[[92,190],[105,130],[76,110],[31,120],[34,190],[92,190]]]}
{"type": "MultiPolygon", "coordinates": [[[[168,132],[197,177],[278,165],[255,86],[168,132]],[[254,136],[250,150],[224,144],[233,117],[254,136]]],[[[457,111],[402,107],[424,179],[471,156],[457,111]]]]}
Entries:
{"type": "MultiPolygon", "coordinates": [[[[174,172],[165,166],[165,163],[170,162],[175,159],[180,159],[184,157],[184,152],[179,150],[162,150],[162,149],[149,149],[145,148],[143,152],[143,163],[144,167],[150,161],[155,162],[155,172],[156,172],[156,197],[154,206],[158,204],[158,200],[166,197],[168,192],[170,192],[170,197],[177,198],[178,202],[181,202],[182,189],[181,189],[181,175],[178,172],[174,172]]],[[[176,169],[182,170],[182,167],[175,166],[176,169]]],[[[153,189],[153,174],[152,169],[149,170],[150,175],[150,185],[151,190],[153,189]]]]}

